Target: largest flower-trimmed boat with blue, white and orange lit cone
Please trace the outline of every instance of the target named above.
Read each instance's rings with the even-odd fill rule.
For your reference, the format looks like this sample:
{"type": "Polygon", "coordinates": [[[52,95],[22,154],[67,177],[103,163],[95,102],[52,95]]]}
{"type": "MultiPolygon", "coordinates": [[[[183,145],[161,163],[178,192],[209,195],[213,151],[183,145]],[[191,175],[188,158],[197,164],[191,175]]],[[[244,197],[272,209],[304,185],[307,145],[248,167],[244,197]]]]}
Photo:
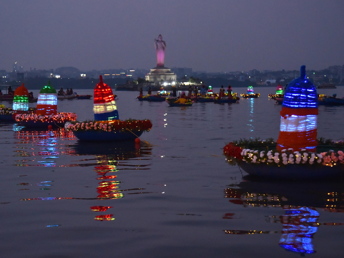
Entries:
{"type": "Polygon", "coordinates": [[[318,94],[304,65],[284,93],[280,115],[277,142],[230,142],[224,147],[228,162],[251,175],[274,179],[337,178],[343,173],[344,152],[336,145],[318,146],[318,94]]]}

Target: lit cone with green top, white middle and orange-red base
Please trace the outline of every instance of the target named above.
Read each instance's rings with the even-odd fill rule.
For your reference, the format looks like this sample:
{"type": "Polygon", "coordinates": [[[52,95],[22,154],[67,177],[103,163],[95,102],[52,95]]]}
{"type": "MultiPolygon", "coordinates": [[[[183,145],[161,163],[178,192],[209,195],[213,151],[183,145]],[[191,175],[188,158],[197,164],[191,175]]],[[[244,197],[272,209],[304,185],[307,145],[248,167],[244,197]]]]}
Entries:
{"type": "Polygon", "coordinates": [[[57,114],[57,94],[54,87],[50,85],[50,81],[38,94],[36,114],[41,116],[57,114]]]}

